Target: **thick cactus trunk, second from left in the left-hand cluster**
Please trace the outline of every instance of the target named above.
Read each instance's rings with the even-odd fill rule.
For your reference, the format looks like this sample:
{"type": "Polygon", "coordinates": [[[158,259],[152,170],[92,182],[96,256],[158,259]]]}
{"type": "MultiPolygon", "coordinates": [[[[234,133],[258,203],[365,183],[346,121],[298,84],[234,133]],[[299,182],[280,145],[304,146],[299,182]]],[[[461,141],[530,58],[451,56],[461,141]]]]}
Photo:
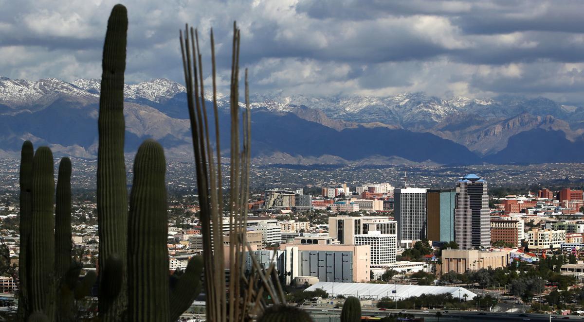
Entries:
{"type": "MultiPolygon", "coordinates": [[[[53,205],[55,181],[53,178],[53,153],[46,146],[37,149],[33,158],[32,181],[32,232],[30,235],[32,310],[53,314],[55,236],[53,205]]],[[[50,320],[52,320],[50,318],[50,320]]]]}

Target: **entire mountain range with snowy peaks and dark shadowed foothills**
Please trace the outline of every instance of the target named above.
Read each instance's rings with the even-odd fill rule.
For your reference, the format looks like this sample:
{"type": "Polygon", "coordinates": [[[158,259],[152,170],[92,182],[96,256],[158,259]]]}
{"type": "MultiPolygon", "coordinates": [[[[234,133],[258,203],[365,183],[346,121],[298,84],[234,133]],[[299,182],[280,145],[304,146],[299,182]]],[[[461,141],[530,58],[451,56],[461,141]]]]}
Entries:
{"type": "MultiPolygon", "coordinates": [[[[51,146],[57,155],[95,157],[99,88],[98,79],[33,82],[0,77],[0,156],[18,155],[22,141],[30,139],[36,146],[51,146]]],[[[150,137],[165,146],[168,157],[191,157],[184,86],[154,79],[126,85],[124,96],[128,153],[150,137]]],[[[584,160],[584,107],[544,97],[271,93],[253,95],[251,101],[252,156],[258,163],[584,160]]],[[[228,100],[220,96],[218,107],[221,144],[229,146],[228,100]]]]}

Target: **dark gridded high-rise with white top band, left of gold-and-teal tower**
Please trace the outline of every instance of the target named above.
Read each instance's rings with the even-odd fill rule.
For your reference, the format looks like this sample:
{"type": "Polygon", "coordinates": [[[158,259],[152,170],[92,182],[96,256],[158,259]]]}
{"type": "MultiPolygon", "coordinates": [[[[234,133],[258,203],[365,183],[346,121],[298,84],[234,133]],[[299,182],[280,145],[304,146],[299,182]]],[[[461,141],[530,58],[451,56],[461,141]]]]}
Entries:
{"type": "Polygon", "coordinates": [[[426,238],[426,189],[395,189],[394,199],[394,216],[398,222],[398,242],[426,238]]]}

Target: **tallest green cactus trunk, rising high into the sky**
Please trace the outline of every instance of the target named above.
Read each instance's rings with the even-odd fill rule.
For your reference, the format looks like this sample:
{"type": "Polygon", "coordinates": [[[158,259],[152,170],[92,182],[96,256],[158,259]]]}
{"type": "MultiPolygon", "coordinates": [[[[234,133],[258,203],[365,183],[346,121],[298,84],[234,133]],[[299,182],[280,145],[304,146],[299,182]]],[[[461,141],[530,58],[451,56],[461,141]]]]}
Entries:
{"type": "MultiPolygon", "coordinates": [[[[124,70],[126,69],[126,7],[116,5],[107,21],[103,45],[102,82],[99,97],[98,224],[99,268],[105,275],[121,274],[118,292],[103,289],[100,281],[99,315],[104,322],[123,319],[127,309],[126,248],[128,204],[124,164],[124,70]],[[116,255],[121,271],[107,272],[116,255]],[[113,294],[116,293],[116,294],[113,294]],[[112,294],[114,298],[111,298],[112,294]]],[[[112,264],[113,265],[113,264],[112,264]]]]}

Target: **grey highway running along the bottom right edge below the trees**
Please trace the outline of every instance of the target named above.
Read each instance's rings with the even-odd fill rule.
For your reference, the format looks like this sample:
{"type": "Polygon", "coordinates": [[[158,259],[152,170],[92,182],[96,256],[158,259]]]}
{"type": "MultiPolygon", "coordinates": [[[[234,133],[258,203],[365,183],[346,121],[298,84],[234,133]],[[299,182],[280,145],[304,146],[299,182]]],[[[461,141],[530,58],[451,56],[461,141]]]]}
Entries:
{"type": "MultiPolygon", "coordinates": [[[[331,322],[338,321],[340,316],[340,311],[342,309],[322,309],[322,308],[315,308],[315,307],[304,307],[304,310],[310,312],[310,315],[315,318],[315,321],[326,321],[327,319],[331,322]]],[[[437,310],[429,310],[429,312],[425,313],[421,310],[392,310],[388,309],[387,311],[380,311],[380,310],[369,310],[364,309],[362,310],[363,316],[389,316],[392,313],[409,313],[413,314],[415,317],[423,317],[425,321],[438,321],[436,317],[437,310]]],[[[451,311],[449,313],[443,313],[440,317],[440,321],[443,322],[454,322],[454,321],[524,321],[524,319],[528,319],[529,321],[533,322],[548,322],[550,321],[550,316],[548,314],[521,314],[520,313],[498,313],[498,312],[480,312],[484,314],[479,314],[478,311],[451,311]]],[[[553,316],[552,316],[553,317],[553,316]]],[[[582,321],[584,317],[579,316],[569,316],[570,320],[577,320],[582,321]]],[[[564,321],[562,316],[556,316],[555,318],[551,319],[552,321],[564,321]]],[[[527,321],[527,320],[525,320],[527,321]]]]}

